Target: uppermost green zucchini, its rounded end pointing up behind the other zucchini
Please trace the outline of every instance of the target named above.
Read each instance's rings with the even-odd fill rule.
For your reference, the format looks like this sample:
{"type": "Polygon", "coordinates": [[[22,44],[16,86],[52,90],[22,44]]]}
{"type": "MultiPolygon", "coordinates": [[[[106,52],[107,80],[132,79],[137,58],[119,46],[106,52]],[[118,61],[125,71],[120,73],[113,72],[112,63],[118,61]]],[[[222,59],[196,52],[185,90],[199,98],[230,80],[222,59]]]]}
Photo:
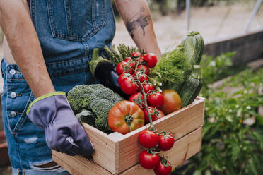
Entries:
{"type": "Polygon", "coordinates": [[[190,30],[182,40],[184,53],[191,65],[200,64],[204,52],[204,40],[197,30],[190,30]]]}

